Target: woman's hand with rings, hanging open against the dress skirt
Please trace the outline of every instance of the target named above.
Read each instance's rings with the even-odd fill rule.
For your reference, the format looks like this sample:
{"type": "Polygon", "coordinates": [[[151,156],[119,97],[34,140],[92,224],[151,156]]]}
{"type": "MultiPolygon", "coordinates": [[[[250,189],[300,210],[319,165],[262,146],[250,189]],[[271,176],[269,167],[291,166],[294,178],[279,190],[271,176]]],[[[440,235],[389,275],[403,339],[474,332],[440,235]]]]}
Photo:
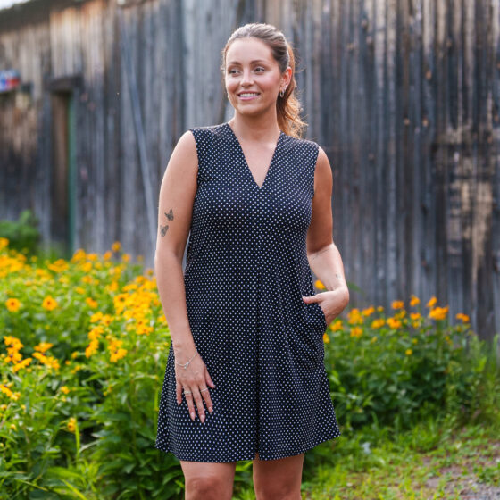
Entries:
{"type": "MultiPolygon", "coordinates": [[[[189,359],[184,355],[182,357],[185,359],[182,359],[182,361],[179,362],[187,362],[187,359],[189,359]]],[[[186,397],[191,420],[194,421],[196,418],[195,405],[193,404],[193,401],[195,401],[198,409],[198,416],[200,421],[203,423],[205,419],[203,402],[205,402],[208,411],[211,413],[213,412],[213,404],[212,398],[210,397],[210,391],[202,391],[202,389],[208,386],[215,388],[215,384],[212,382],[212,378],[210,377],[200,354],[196,353],[196,356],[187,365],[187,369],[175,363],[175,378],[177,404],[182,402],[182,391],[187,391],[187,394],[186,392],[184,393],[184,397],[186,397]],[[188,394],[189,392],[191,394],[188,394]]]]}

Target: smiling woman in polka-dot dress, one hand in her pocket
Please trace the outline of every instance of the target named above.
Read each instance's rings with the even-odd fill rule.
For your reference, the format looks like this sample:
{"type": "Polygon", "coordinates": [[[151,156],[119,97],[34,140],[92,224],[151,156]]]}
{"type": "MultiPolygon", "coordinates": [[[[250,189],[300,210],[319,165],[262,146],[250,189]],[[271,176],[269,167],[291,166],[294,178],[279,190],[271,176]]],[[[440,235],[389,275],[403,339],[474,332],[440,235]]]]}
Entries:
{"type": "Polygon", "coordinates": [[[179,458],[187,499],[229,500],[238,460],[254,461],[258,499],[300,499],[304,452],[340,436],[323,334],[349,293],[329,160],[298,137],[294,69],[276,28],[237,29],[221,64],[234,116],[189,129],[162,180],[171,346],[155,447],[179,458]],[[328,291],[314,295],[311,268],[328,291]]]}

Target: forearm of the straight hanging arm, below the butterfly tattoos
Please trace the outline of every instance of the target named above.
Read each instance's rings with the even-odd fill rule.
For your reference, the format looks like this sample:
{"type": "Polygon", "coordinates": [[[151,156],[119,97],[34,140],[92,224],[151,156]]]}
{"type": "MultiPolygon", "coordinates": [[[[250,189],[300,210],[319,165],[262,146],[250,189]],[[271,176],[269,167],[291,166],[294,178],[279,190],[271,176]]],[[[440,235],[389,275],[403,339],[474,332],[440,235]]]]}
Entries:
{"type": "Polygon", "coordinates": [[[154,257],[154,271],[176,358],[179,354],[179,362],[185,362],[195,353],[196,346],[187,320],[182,262],[176,254],[163,252],[154,257]]]}

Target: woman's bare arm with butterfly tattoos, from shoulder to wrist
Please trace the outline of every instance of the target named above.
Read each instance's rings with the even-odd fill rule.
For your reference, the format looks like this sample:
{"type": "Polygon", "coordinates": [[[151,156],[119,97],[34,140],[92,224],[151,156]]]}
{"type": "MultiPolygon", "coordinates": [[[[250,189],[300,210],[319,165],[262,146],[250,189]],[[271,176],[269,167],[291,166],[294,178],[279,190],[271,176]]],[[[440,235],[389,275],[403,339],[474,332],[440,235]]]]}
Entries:
{"type": "Polygon", "coordinates": [[[163,174],[154,254],[158,292],[169,324],[175,359],[181,363],[187,362],[196,349],[187,321],[182,258],[191,225],[197,171],[195,137],[187,130],[179,138],[163,174]]]}

